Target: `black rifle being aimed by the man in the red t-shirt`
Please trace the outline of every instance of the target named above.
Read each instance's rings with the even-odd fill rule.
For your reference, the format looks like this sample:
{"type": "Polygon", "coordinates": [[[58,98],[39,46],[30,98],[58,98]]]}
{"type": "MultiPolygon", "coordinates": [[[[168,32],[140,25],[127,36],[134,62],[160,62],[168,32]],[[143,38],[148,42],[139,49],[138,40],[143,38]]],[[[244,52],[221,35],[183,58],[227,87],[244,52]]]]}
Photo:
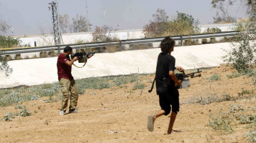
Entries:
{"type": "MultiPolygon", "coordinates": [[[[88,56],[93,56],[95,53],[96,52],[86,53],[86,51],[82,51],[82,52],[77,52],[76,54],[72,54],[72,55],[68,54],[68,55],[66,55],[66,57],[70,61],[75,56],[78,56],[78,63],[84,63],[83,66],[85,66],[88,56]]],[[[73,65],[76,66],[76,64],[73,64],[73,65]]],[[[76,66],[76,67],[81,68],[83,66],[76,66]]]]}

